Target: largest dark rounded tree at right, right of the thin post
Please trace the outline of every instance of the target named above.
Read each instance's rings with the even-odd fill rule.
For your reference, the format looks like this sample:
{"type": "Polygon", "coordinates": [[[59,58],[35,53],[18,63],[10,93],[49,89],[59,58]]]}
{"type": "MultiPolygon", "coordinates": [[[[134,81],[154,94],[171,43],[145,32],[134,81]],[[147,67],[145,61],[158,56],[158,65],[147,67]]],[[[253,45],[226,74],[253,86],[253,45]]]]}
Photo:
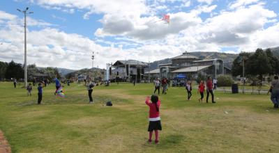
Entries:
{"type": "Polygon", "coordinates": [[[264,74],[269,74],[269,72],[271,72],[271,64],[264,50],[257,49],[255,54],[250,56],[246,72],[253,76],[259,75],[260,80],[263,79],[264,74]]]}

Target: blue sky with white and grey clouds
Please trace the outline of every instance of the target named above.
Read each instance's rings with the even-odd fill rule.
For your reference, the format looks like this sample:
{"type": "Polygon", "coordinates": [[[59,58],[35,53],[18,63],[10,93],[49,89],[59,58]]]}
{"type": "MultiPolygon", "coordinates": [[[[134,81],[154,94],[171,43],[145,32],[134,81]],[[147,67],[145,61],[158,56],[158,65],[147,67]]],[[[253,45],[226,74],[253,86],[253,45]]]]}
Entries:
{"type": "Polygon", "coordinates": [[[0,61],[80,69],[116,60],[147,62],[183,51],[239,53],[279,46],[277,0],[1,0],[0,61]],[[160,21],[169,15],[170,23],[160,21]],[[159,21],[159,22],[157,22],[159,21]]]}

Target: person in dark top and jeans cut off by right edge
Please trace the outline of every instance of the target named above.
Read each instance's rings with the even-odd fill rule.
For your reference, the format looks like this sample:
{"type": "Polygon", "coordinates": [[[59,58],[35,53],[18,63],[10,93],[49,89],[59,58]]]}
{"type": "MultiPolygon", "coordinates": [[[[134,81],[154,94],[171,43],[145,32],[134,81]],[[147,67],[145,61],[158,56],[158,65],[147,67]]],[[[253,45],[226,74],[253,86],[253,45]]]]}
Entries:
{"type": "Polygon", "coordinates": [[[271,102],[273,107],[278,108],[279,106],[279,80],[278,76],[274,76],[274,80],[271,81],[271,102]]]}

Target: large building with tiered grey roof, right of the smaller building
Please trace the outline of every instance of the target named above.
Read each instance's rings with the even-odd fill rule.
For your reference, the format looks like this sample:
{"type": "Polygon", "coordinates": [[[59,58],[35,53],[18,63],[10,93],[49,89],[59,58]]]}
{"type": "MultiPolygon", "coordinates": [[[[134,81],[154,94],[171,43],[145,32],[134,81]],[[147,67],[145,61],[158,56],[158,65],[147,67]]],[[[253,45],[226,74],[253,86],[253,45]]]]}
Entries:
{"type": "Polygon", "coordinates": [[[182,55],[172,58],[172,63],[159,65],[158,69],[151,72],[145,72],[146,76],[152,76],[151,79],[156,76],[173,79],[178,74],[186,74],[186,76],[194,78],[198,75],[216,78],[220,74],[230,73],[230,69],[224,66],[224,62],[221,59],[201,60],[197,56],[191,56],[184,52],[182,55]]]}

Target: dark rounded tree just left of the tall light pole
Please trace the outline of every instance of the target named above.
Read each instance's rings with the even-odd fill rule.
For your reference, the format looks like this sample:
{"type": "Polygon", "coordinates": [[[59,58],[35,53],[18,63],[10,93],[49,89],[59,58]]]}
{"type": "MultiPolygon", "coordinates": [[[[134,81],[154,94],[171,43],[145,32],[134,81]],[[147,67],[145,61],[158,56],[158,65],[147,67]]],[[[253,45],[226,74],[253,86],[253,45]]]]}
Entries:
{"type": "Polygon", "coordinates": [[[22,65],[15,63],[14,61],[10,61],[6,69],[5,77],[6,79],[11,79],[11,78],[22,79],[24,77],[24,70],[22,68],[22,65]]]}

